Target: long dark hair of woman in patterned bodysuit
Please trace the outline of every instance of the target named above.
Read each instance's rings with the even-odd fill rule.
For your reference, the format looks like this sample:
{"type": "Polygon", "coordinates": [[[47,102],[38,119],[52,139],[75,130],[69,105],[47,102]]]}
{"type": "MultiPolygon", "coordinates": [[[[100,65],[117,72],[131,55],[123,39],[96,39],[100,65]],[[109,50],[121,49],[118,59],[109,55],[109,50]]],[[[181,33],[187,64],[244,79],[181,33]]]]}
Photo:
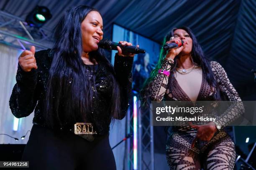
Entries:
{"type": "MultiPolygon", "coordinates": [[[[207,79],[207,82],[209,83],[209,85],[211,87],[215,88],[214,99],[215,100],[221,100],[220,87],[219,87],[218,82],[216,81],[216,79],[214,77],[214,74],[213,74],[211,66],[210,66],[210,62],[205,57],[201,46],[197,42],[197,38],[193,34],[192,30],[190,30],[190,28],[185,27],[185,26],[179,27],[179,28],[173,28],[171,31],[169,31],[166,34],[166,36],[164,38],[163,46],[165,45],[165,43],[167,41],[170,40],[171,37],[174,36],[174,31],[177,30],[177,29],[185,30],[189,34],[189,36],[191,37],[192,42],[193,42],[192,51],[191,51],[192,59],[195,63],[200,65],[200,67],[202,68],[202,72],[203,72],[203,74],[206,75],[206,79],[207,79]]],[[[149,102],[150,102],[149,99],[151,97],[151,85],[153,83],[154,77],[156,77],[156,75],[158,73],[158,70],[161,69],[161,65],[162,65],[162,62],[163,62],[164,57],[165,57],[166,54],[167,54],[167,51],[165,51],[165,50],[163,50],[163,48],[161,48],[161,51],[160,51],[160,54],[159,54],[159,60],[158,60],[158,63],[156,65],[156,68],[151,72],[150,77],[144,83],[144,87],[140,92],[140,97],[141,97],[143,105],[148,105],[149,102]]],[[[173,74],[176,66],[177,66],[177,57],[174,58],[174,68],[172,68],[172,70],[170,72],[170,75],[173,74]]]]}

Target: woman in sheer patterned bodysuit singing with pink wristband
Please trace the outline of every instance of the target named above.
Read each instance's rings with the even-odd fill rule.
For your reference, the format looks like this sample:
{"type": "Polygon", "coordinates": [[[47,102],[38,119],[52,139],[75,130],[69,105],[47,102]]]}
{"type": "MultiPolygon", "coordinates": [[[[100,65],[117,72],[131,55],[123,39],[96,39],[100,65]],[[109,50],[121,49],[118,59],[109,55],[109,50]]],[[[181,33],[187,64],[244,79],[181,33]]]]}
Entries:
{"type": "MultiPolygon", "coordinates": [[[[208,62],[195,35],[187,27],[174,28],[164,44],[180,47],[161,50],[156,69],[146,81],[141,98],[155,101],[241,101],[223,67],[208,62]],[[183,41],[183,45],[182,45],[183,41]]],[[[168,128],[166,158],[174,170],[230,170],[235,164],[233,140],[223,128],[244,112],[241,102],[230,105],[215,122],[168,128]]]]}

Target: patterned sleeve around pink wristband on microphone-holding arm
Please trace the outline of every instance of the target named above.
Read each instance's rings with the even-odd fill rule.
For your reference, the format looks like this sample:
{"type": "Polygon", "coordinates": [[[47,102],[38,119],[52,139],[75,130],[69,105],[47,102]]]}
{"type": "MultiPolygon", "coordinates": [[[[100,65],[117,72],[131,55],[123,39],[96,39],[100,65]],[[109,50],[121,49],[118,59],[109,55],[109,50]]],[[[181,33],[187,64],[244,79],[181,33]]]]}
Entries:
{"type": "MultiPolygon", "coordinates": [[[[173,62],[164,60],[161,70],[170,71],[173,67],[173,62]]],[[[151,100],[161,101],[167,89],[169,77],[162,73],[157,73],[156,77],[151,83],[151,100]]]]}

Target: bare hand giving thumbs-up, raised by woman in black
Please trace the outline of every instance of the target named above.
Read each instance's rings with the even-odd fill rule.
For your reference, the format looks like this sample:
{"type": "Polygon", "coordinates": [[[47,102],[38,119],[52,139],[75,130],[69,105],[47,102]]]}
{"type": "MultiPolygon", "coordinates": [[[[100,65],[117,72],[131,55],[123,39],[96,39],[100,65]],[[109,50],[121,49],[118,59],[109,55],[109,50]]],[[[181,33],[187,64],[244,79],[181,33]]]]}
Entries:
{"type": "Polygon", "coordinates": [[[31,46],[30,50],[24,50],[19,56],[19,65],[25,72],[30,72],[32,68],[37,69],[35,58],[36,47],[31,46]]]}

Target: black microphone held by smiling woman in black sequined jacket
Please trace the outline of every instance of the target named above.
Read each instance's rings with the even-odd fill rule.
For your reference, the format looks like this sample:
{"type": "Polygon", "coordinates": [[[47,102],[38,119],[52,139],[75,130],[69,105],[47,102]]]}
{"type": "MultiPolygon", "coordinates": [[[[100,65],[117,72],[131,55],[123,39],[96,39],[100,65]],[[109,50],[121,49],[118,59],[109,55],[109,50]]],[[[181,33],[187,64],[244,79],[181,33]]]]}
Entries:
{"type": "Polygon", "coordinates": [[[131,52],[133,54],[138,54],[138,53],[145,53],[146,51],[135,46],[122,46],[121,44],[117,42],[113,42],[110,40],[100,40],[99,42],[99,47],[106,49],[106,50],[117,50],[117,46],[122,49],[124,52],[131,52]]]}

